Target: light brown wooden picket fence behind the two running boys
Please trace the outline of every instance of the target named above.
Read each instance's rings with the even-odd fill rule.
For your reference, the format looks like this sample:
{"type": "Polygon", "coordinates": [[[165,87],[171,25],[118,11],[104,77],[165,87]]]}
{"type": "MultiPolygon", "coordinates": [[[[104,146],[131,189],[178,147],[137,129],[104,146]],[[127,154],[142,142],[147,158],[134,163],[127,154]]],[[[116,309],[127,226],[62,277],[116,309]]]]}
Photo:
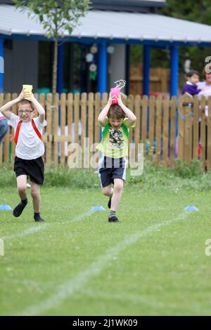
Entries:
{"type": "MultiPolygon", "coordinates": [[[[84,138],[89,138],[89,147],[100,140],[97,118],[107,103],[108,94],[103,93],[102,100],[100,93],[62,93],[56,94],[54,100],[51,93],[46,97],[44,94],[34,96],[46,110],[48,125],[42,137],[46,147],[46,166],[66,166],[72,143],[80,145],[83,159],[87,148],[84,138]]],[[[0,94],[0,105],[16,97],[17,93],[0,94]]],[[[137,117],[136,127],[131,129],[129,135],[129,143],[135,144],[135,150],[138,150],[139,143],[144,143],[144,156],[164,166],[175,166],[176,159],[190,164],[191,159],[198,158],[200,152],[203,169],[211,170],[211,98],[198,100],[198,96],[191,98],[184,95],[179,99],[170,99],[167,96],[148,98],[129,95],[123,101],[137,117]]],[[[16,113],[16,106],[13,112],[16,113]]],[[[90,151],[90,157],[96,152],[96,144],[90,151]]],[[[3,163],[12,166],[14,157],[11,128],[0,146],[0,166],[3,163]]],[[[83,161],[82,167],[87,167],[83,161]]]]}

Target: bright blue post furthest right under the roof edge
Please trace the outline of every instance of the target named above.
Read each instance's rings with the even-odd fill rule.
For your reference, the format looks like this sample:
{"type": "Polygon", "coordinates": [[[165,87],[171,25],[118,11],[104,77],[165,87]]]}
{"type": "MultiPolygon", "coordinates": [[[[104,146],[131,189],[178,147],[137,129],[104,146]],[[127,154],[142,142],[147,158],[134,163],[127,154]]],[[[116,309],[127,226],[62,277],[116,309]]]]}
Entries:
{"type": "Polygon", "coordinates": [[[171,67],[171,77],[170,77],[170,95],[178,95],[178,77],[179,77],[179,48],[176,45],[170,47],[170,67],[171,67]]]}

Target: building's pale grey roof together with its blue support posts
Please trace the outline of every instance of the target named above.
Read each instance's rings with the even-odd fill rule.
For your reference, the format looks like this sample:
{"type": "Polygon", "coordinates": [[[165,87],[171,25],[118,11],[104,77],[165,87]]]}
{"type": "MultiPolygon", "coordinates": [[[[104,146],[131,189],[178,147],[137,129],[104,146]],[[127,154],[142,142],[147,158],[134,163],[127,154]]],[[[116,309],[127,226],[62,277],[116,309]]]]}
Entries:
{"type": "MultiPolygon", "coordinates": [[[[146,1],[145,1],[146,2],[146,1]]],[[[155,1],[154,1],[155,2],[155,1]]],[[[164,1],[160,1],[164,2],[164,1]]],[[[177,95],[179,46],[211,46],[211,26],[196,22],[170,18],[155,13],[92,10],[72,34],[65,32],[61,39],[81,44],[98,44],[98,91],[103,93],[107,86],[107,44],[143,45],[143,93],[149,93],[149,70],[151,46],[170,48],[170,95],[177,95]]],[[[36,15],[14,6],[0,5],[0,57],[4,57],[4,39],[48,40],[46,31],[36,15]]],[[[63,44],[58,50],[58,91],[63,88],[63,44]]],[[[0,72],[0,91],[3,80],[0,72]]]]}

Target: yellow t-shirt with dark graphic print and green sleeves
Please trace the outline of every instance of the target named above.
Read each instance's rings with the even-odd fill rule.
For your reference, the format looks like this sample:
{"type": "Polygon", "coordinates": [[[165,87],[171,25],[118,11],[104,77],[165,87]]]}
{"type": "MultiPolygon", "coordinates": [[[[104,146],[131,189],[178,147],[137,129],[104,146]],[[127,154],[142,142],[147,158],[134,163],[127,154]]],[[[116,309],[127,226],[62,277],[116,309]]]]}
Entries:
{"type": "MultiPolygon", "coordinates": [[[[103,130],[108,124],[109,121],[107,117],[105,126],[103,126],[103,130]]],[[[110,127],[105,136],[103,136],[101,143],[96,146],[96,149],[103,152],[105,156],[111,158],[121,158],[127,156],[128,136],[125,132],[125,129],[129,131],[129,127],[134,127],[135,124],[129,124],[128,118],[124,118],[123,124],[124,128],[123,126],[120,126],[118,129],[110,127]]]]}

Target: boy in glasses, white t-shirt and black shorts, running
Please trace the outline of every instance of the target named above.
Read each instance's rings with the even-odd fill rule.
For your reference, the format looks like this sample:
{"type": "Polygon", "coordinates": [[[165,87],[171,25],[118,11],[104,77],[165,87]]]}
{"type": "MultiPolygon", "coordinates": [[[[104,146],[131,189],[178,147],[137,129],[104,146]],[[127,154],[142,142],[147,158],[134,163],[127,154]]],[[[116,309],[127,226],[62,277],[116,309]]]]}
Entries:
{"type": "Polygon", "coordinates": [[[14,171],[17,178],[20,203],[13,209],[13,216],[18,217],[27,205],[27,177],[31,180],[31,195],[34,206],[34,220],[43,222],[39,214],[39,186],[44,182],[44,143],[41,141],[42,129],[46,126],[45,110],[34,98],[32,93],[23,89],[18,98],[12,100],[0,109],[9,119],[9,124],[15,130],[15,163],[14,171]],[[18,116],[11,112],[11,107],[18,103],[18,116]],[[35,110],[39,117],[33,119],[35,110]]]}

